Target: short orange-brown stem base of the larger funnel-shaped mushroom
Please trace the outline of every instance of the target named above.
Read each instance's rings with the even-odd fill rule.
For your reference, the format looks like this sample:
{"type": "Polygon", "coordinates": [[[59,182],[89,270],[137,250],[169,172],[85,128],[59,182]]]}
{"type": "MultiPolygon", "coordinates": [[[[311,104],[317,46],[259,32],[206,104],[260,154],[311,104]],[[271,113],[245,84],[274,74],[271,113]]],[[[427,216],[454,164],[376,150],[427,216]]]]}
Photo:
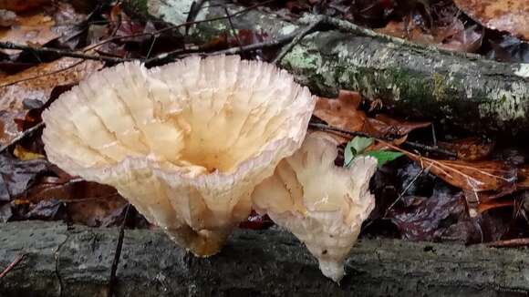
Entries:
{"type": "Polygon", "coordinates": [[[171,241],[185,247],[197,257],[213,256],[221,251],[230,230],[193,230],[184,225],[178,229],[166,229],[171,241]]]}

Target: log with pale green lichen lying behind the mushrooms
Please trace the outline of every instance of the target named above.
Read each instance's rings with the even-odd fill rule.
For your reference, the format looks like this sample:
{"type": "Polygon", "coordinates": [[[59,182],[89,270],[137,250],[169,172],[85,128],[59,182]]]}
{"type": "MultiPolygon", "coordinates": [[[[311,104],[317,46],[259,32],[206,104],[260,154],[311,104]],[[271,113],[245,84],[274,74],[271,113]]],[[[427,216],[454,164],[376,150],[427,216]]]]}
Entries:
{"type": "MultiPolygon", "coordinates": [[[[197,20],[225,16],[207,2],[197,20]]],[[[185,22],[191,0],[129,0],[126,6],[173,25],[185,22]]],[[[243,6],[227,5],[230,14],[243,6]]],[[[249,29],[280,38],[316,20],[292,20],[282,12],[254,8],[231,17],[235,30],[249,29]]],[[[306,36],[280,62],[313,92],[333,97],[338,89],[359,90],[368,99],[415,118],[432,118],[478,131],[529,131],[529,64],[499,63],[381,36],[346,21],[306,36]]],[[[327,24],[328,25],[328,24],[327,24]]],[[[227,19],[191,26],[195,42],[230,34],[227,19]]],[[[184,28],[181,28],[184,32],[184,28]]]]}

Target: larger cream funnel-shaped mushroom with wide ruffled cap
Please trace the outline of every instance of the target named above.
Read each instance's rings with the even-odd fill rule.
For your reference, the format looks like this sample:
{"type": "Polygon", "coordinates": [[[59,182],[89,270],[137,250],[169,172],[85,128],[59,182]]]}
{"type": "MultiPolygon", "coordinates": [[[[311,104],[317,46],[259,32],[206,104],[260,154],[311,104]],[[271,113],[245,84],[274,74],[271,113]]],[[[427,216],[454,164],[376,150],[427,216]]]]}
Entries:
{"type": "Polygon", "coordinates": [[[59,97],[43,140],[61,169],[114,186],[207,256],[247,218],[254,186],[299,148],[314,105],[284,70],[238,56],[125,63],[59,97]]]}

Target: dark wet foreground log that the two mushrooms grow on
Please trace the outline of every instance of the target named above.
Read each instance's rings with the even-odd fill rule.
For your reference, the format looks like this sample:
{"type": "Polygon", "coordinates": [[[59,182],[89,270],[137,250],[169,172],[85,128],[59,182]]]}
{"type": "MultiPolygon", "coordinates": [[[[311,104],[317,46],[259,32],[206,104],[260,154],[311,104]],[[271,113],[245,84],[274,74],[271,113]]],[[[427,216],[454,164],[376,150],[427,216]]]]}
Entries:
{"type": "MultiPolygon", "coordinates": [[[[105,296],[118,229],[61,222],[0,225],[1,296],[105,296]]],[[[160,230],[126,230],[117,296],[525,296],[529,251],[363,240],[340,285],[282,230],[235,230],[219,254],[194,258],[160,230]]]]}

